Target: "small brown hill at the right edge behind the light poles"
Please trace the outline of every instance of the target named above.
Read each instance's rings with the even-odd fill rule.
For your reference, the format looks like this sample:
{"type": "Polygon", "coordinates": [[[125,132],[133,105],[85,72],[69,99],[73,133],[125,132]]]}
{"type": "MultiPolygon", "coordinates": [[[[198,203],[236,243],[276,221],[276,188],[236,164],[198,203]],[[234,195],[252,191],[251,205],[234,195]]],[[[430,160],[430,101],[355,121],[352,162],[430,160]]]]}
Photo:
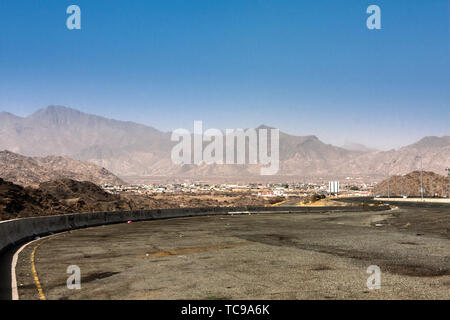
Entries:
{"type": "MultiPolygon", "coordinates": [[[[388,183],[391,196],[420,196],[420,171],[414,171],[404,176],[392,176],[379,183],[374,193],[387,195],[388,183]]],[[[434,172],[423,172],[423,188],[425,197],[443,197],[449,193],[449,178],[434,172]]]]}

